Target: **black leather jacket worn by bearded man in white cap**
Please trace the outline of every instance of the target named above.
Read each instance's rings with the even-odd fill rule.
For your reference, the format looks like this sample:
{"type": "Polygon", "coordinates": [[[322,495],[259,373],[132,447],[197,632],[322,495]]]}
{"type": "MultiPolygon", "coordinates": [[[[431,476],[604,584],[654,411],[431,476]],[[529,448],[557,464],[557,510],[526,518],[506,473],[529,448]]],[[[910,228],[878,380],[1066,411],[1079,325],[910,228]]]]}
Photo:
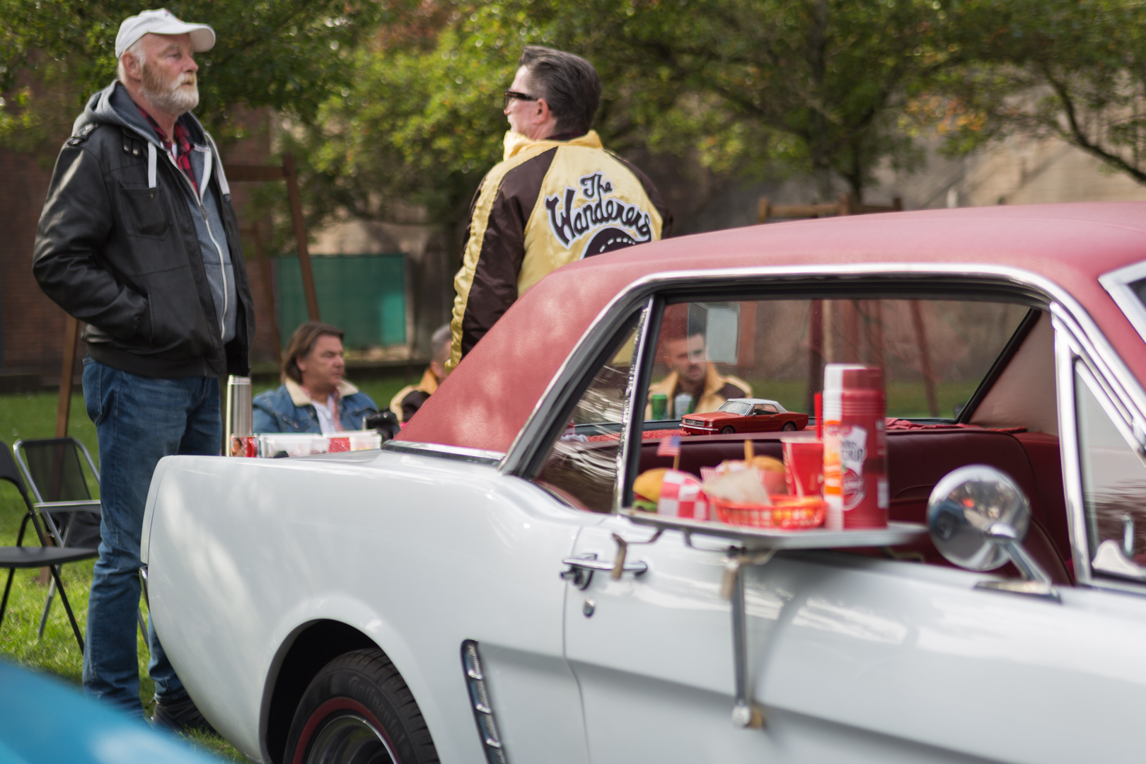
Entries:
{"type": "MultiPolygon", "coordinates": [[[[148,136],[121,116],[126,109],[115,102],[125,96],[118,84],[92,96],[60,151],[36,231],[36,279],[87,323],[84,339],[96,361],[144,377],[248,376],[254,312],[226,181],[221,172],[210,180],[240,302],[235,339],[225,347],[195,222],[175,186],[187,178],[160,156],[149,188],[148,136]]],[[[180,119],[193,140],[209,140],[189,112],[180,119]]]]}

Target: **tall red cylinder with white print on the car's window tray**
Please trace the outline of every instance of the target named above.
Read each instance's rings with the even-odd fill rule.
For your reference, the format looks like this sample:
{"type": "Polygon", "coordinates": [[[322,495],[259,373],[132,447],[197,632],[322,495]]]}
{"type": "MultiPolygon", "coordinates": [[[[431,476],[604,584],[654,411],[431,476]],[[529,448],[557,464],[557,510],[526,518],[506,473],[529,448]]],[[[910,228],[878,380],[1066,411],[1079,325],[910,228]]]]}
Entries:
{"type": "Polygon", "coordinates": [[[846,369],[840,392],[843,528],[887,527],[887,395],[884,370],[846,369]]]}

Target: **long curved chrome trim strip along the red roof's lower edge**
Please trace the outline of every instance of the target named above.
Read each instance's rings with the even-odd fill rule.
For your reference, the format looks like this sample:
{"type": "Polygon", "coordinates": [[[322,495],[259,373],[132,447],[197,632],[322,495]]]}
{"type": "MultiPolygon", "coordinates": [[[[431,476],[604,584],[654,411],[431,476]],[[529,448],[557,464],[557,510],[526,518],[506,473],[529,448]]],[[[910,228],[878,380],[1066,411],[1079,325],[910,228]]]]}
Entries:
{"type": "MultiPolygon", "coordinates": [[[[1130,373],[1122,360],[1114,353],[1109,342],[1098,330],[1097,324],[1086,314],[1082,306],[1059,284],[1044,276],[1010,266],[971,265],[971,263],[902,263],[902,262],[872,262],[872,263],[846,263],[832,266],[766,266],[755,268],[716,268],[709,270],[677,270],[659,274],[650,274],[629,284],[618,292],[609,304],[602,308],[589,326],[581,334],[568,357],[558,367],[544,393],[537,400],[526,419],[525,425],[513,439],[512,444],[502,462],[501,468],[509,474],[520,474],[529,463],[533,451],[536,448],[536,440],[542,433],[549,430],[552,424],[547,415],[560,407],[565,389],[573,380],[580,378],[583,360],[599,351],[602,342],[607,341],[615,331],[617,325],[629,315],[631,310],[665,289],[688,289],[691,286],[712,286],[713,282],[738,283],[743,286],[751,286],[752,282],[767,279],[776,281],[799,281],[799,279],[824,279],[839,284],[841,277],[879,277],[887,279],[902,278],[950,278],[959,282],[982,282],[998,279],[1000,285],[1010,284],[1014,288],[1033,290],[1047,298],[1051,304],[1052,314],[1055,307],[1059,315],[1069,321],[1070,325],[1078,328],[1078,336],[1093,352],[1093,359],[1099,361],[1104,372],[1109,375],[1122,389],[1120,393],[1128,403],[1133,404],[1133,409],[1140,417],[1140,412],[1146,411],[1146,393],[1137,379],[1130,373]],[[1054,304],[1058,304],[1055,306],[1054,304]]],[[[959,284],[952,284],[952,288],[959,284]]],[[[971,284],[967,284],[971,285],[971,284]]],[[[1136,417],[1138,419],[1138,417],[1136,417]]],[[[1140,422],[1146,423],[1146,417],[1140,422]]],[[[1146,424],[1136,427],[1146,433],[1146,424]]]]}

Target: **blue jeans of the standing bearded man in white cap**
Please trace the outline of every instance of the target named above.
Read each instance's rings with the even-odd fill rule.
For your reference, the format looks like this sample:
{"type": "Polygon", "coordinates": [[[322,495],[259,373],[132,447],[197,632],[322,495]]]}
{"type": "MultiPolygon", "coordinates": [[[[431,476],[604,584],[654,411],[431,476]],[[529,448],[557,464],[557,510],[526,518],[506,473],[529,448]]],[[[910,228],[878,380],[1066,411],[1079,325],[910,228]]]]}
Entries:
{"type": "MultiPolygon", "coordinates": [[[[173,454],[218,455],[222,441],[219,380],[156,379],[84,360],[84,403],[100,440],[100,559],[87,604],[84,692],[142,716],[135,611],[140,535],[151,473],[173,454]]],[[[156,700],[187,696],[148,624],[156,700]]]]}

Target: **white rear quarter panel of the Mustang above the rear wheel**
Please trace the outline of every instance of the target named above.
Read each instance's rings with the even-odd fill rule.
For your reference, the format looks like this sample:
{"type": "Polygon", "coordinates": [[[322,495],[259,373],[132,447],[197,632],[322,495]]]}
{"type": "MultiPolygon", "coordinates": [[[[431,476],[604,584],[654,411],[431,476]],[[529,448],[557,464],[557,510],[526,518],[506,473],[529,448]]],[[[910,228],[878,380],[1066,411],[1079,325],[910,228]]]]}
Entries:
{"type": "MultiPolygon", "coordinates": [[[[461,643],[562,674],[558,574],[583,515],[488,466],[339,456],[160,462],[146,521],[165,652],[223,737],[266,761],[260,727],[282,647],[308,622],[350,624],[393,660],[441,759],[481,761],[461,643]]],[[[515,692],[528,677],[505,676],[495,701],[527,706],[515,692]]],[[[572,678],[554,692],[572,710],[572,678]]]]}

